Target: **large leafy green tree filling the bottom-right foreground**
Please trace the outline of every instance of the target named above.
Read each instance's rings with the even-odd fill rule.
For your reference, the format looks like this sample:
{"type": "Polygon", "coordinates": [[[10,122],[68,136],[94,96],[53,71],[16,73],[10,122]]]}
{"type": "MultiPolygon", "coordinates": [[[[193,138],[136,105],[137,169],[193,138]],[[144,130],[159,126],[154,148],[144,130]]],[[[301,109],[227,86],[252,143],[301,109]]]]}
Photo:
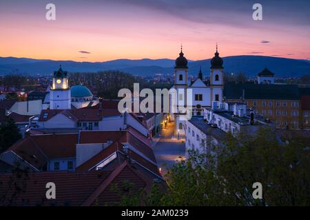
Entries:
{"type": "Polygon", "coordinates": [[[157,199],[163,206],[309,206],[310,151],[298,138],[279,141],[270,129],[228,133],[205,154],[189,151],[166,180],[157,199]],[[252,196],[256,182],[262,199],[252,196]]]}

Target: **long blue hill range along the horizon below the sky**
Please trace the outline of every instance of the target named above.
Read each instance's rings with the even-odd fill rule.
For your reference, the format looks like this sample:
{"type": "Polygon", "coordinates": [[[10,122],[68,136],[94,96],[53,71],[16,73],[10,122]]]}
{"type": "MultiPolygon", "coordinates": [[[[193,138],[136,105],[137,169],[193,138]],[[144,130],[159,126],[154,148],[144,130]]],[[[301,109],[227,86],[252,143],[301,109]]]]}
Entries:
{"type": "MultiPolygon", "coordinates": [[[[256,76],[265,67],[276,74],[276,77],[293,77],[310,74],[310,61],[278,58],[272,56],[227,56],[223,58],[225,72],[242,72],[247,76],[256,76]]],[[[68,72],[98,72],[105,70],[120,70],[130,74],[152,76],[154,74],[172,74],[174,60],[171,59],[119,59],[107,62],[75,62],[36,60],[31,58],[0,57],[0,74],[52,74],[59,65],[68,72]]],[[[203,73],[209,74],[210,59],[189,61],[189,74],[198,74],[201,66],[203,73]]]]}

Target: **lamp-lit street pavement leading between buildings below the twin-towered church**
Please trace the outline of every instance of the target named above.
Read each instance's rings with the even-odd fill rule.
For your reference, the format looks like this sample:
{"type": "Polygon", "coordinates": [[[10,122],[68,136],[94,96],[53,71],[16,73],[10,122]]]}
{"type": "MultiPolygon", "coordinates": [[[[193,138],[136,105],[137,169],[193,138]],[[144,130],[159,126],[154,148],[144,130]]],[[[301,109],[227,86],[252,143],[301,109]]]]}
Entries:
{"type": "Polygon", "coordinates": [[[167,124],[167,129],[163,129],[161,133],[154,137],[153,150],[157,160],[158,168],[163,173],[167,168],[172,166],[176,160],[185,157],[185,142],[174,137],[174,123],[167,124]],[[158,142],[156,142],[158,141],[158,142]]]}

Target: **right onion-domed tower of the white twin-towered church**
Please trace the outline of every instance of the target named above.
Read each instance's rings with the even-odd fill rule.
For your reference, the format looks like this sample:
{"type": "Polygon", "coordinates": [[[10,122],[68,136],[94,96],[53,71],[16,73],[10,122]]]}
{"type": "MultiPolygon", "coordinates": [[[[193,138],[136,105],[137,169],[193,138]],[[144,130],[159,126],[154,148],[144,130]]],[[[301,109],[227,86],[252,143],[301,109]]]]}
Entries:
{"type": "Polygon", "coordinates": [[[224,72],[223,72],[223,59],[220,58],[218,53],[218,45],[216,45],[216,53],[211,58],[210,67],[210,100],[222,102],[223,100],[223,87],[224,87],[224,72]]]}

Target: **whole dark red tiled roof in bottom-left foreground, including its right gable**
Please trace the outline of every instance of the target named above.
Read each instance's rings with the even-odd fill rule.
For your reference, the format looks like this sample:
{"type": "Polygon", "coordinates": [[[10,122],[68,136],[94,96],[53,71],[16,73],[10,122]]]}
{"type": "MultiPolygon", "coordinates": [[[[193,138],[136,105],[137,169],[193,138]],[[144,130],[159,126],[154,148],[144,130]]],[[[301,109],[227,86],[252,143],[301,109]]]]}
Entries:
{"type": "Polygon", "coordinates": [[[142,188],[149,190],[156,178],[151,173],[141,172],[127,161],[114,170],[30,173],[27,179],[14,179],[15,186],[25,184],[25,188],[17,194],[15,200],[10,201],[7,198],[16,192],[13,188],[8,188],[12,183],[11,177],[8,173],[0,174],[0,192],[8,192],[4,199],[5,206],[105,206],[119,201],[128,192],[123,188],[124,181],[134,184],[134,191],[142,188]],[[56,185],[56,199],[46,199],[45,186],[48,182],[56,185]],[[119,192],[113,190],[115,186],[119,192]]]}

